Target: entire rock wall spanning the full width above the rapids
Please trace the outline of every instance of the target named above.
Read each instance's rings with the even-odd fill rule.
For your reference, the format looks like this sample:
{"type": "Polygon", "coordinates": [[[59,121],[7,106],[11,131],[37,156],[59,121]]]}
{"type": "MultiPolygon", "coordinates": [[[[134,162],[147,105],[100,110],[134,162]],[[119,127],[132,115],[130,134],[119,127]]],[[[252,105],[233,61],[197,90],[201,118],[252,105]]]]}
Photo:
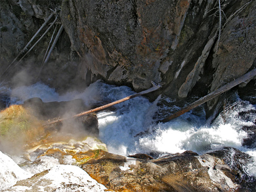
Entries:
{"type": "MultiPolygon", "coordinates": [[[[65,32],[52,56],[52,62],[59,63],[54,64],[54,70],[48,68],[43,73],[48,77],[45,81],[61,79],[52,80],[52,84],[60,84],[66,79],[59,78],[63,75],[69,80],[83,79],[86,84],[102,78],[131,86],[135,91],[148,89],[151,81],[164,82],[164,88],[155,92],[153,98],[165,94],[182,99],[192,94],[204,96],[256,66],[253,0],[221,0],[221,35],[218,1],[49,2],[3,3],[1,59],[10,62],[25,46],[25,37],[32,36],[26,33],[34,32],[41,20],[49,16],[49,8],[60,9],[59,22],[65,32]],[[17,30],[13,32],[12,28],[17,30]],[[65,38],[67,35],[69,39],[65,38]],[[79,64],[72,63],[76,53],[79,64]]],[[[41,45],[34,51],[37,59],[42,58],[46,47],[41,45]]],[[[217,100],[208,103],[209,109],[217,100]]]]}

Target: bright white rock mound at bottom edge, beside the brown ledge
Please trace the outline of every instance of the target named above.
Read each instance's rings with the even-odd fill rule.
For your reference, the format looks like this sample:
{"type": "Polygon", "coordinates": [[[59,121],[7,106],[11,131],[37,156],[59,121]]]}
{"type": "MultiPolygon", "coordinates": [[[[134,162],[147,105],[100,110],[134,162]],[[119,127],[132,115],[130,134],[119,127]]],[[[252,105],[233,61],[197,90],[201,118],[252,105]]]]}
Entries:
{"type": "Polygon", "coordinates": [[[57,165],[29,179],[21,180],[6,192],[105,192],[106,188],[74,165],[57,165]]]}

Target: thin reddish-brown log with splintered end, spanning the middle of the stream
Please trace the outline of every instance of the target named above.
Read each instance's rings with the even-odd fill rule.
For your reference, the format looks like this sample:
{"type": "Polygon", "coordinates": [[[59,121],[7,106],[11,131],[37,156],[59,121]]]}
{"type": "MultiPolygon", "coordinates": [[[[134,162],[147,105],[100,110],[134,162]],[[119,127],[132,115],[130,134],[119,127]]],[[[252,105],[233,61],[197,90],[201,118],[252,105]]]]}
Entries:
{"type": "Polygon", "coordinates": [[[47,123],[44,124],[43,126],[45,127],[45,126],[49,126],[49,125],[52,125],[52,124],[60,123],[60,122],[62,122],[62,121],[64,121],[64,120],[68,120],[68,119],[72,119],[72,118],[78,118],[78,117],[87,115],[87,114],[89,114],[89,113],[93,113],[93,112],[96,112],[96,111],[105,109],[105,108],[107,108],[107,107],[110,107],[110,106],[113,106],[113,105],[115,105],[115,104],[124,102],[124,101],[126,101],[126,100],[131,99],[131,98],[134,98],[134,97],[137,97],[137,96],[142,96],[142,95],[144,95],[144,94],[147,94],[147,93],[156,91],[156,90],[158,90],[158,89],[164,84],[164,83],[156,84],[156,83],[154,83],[153,81],[151,81],[151,83],[152,83],[153,87],[152,87],[152,88],[149,88],[149,89],[147,89],[147,90],[145,90],[145,91],[139,92],[139,93],[137,93],[137,94],[133,94],[133,95],[131,95],[131,96],[127,96],[127,97],[125,97],[125,98],[122,98],[122,99],[120,99],[120,100],[117,100],[117,101],[108,103],[108,104],[106,104],[106,105],[97,107],[97,108],[95,108],[95,109],[91,109],[91,110],[89,110],[89,111],[85,111],[85,112],[76,114],[76,115],[74,115],[74,116],[72,116],[72,117],[69,117],[69,118],[63,118],[63,119],[58,119],[58,120],[55,120],[55,121],[47,122],[47,123]]]}

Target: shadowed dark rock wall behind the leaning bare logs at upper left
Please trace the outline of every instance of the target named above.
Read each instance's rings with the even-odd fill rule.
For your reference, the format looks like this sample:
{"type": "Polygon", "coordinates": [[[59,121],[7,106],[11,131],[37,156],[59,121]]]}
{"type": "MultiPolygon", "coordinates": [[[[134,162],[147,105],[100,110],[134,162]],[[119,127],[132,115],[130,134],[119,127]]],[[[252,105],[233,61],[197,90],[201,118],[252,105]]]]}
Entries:
{"type": "MultiPolygon", "coordinates": [[[[34,46],[32,51],[19,64],[17,62],[32,47],[39,37],[54,21],[54,15],[42,31],[34,38],[27,49],[23,50],[32,36],[42,26],[50,14],[60,12],[62,0],[1,0],[0,1],[0,80],[10,81],[12,85],[32,84],[43,81],[57,89],[70,86],[75,78],[78,56],[72,49],[69,36],[62,32],[50,60],[39,70],[55,26],[58,32],[61,21],[57,20],[45,36],[34,46]],[[6,68],[9,66],[8,70],[6,68]]],[[[55,35],[57,34],[55,32],[55,35]]]]}

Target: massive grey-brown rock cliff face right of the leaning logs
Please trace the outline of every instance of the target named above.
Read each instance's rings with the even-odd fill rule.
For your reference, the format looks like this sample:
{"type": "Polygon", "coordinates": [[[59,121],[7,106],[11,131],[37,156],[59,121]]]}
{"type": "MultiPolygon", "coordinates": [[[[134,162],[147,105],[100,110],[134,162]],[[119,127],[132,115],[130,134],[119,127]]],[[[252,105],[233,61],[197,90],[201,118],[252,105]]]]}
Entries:
{"type": "Polygon", "coordinates": [[[136,91],[149,88],[151,80],[165,82],[164,94],[183,98],[201,77],[204,89],[214,91],[252,66],[255,6],[222,2],[228,19],[223,18],[218,52],[213,1],[65,1],[61,17],[82,59],[83,79],[101,76],[136,91]]]}

